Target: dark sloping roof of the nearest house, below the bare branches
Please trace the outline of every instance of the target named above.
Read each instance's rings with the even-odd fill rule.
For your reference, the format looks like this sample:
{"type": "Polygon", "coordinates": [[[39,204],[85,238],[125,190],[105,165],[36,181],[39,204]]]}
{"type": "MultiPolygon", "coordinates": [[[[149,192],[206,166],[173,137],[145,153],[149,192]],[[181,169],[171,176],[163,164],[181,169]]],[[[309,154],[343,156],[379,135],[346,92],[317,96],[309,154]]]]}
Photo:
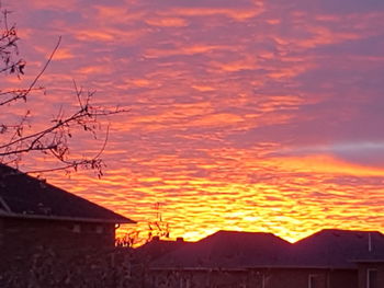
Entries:
{"type": "Polygon", "coordinates": [[[124,216],[4,164],[0,164],[0,216],[134,223],[124,216]]]}

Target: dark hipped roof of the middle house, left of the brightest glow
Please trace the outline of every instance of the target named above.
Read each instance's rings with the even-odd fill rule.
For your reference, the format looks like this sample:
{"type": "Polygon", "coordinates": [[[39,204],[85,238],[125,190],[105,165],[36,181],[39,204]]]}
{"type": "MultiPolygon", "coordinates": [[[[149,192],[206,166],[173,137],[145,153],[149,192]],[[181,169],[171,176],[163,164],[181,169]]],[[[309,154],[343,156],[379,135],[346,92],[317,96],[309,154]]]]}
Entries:
{"type": "Polygon", "coordinates": [[[154,268],[279,266],[291,244],[271,233],[218,231],[154,262],[154,268]]]}

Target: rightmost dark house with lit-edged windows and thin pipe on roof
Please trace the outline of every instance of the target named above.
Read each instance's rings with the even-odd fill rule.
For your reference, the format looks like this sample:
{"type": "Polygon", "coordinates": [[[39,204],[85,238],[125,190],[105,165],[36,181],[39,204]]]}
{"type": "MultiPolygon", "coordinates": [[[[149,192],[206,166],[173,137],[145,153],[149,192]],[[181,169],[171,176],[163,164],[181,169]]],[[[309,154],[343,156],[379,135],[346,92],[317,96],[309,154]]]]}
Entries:
{"type": "Polygon", "coordinates": [[[384,235],[326,229],[293,244],[289,262],[316,267],[308,287],[384,287],[384,235]],[[327,286],[328,285],[328,286],[327,286]]]}

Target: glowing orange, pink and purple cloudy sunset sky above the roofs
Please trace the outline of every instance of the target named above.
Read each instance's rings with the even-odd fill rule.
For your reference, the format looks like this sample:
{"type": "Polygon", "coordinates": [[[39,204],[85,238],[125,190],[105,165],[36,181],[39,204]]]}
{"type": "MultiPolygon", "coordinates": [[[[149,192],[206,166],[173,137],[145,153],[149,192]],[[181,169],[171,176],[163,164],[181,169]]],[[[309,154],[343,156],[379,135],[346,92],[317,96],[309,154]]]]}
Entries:
{"type": "MultiPolygon", "coordinates": [[[[27,103],[34,123],[74,107],[72,79],[129,108],[110,118],[101,180],[48,182],[142,226],[159,203],[187,240],[384,232],[383,0],[2,2],[27,67],[0,85],[31,81],[63,37],[47,94],[27,103]]],[[[92,154],[103,135],[76,139],[74,154],[92,154]]]]}

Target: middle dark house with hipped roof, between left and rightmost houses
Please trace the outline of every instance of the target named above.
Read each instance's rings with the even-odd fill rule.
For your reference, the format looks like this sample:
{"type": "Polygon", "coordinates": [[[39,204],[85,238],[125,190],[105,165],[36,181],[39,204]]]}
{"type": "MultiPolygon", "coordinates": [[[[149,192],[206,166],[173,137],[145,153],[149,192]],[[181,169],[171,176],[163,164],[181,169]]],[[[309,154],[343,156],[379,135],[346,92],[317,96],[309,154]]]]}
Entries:
{"type": "Polygon", "coordinates": [[[290,245],[271,233],[218,231],[155,261],[151,280],[155,287],[259,287],[263,275],[249,267],[279,266],[290,245]]]}

